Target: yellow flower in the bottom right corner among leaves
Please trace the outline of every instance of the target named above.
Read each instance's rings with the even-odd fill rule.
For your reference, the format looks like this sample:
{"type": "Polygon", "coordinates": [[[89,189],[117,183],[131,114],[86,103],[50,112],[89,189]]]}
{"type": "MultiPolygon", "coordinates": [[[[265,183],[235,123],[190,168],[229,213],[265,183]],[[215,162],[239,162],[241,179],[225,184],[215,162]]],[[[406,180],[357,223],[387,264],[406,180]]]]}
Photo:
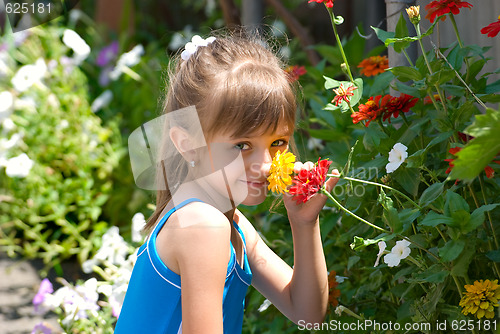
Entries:
{"type": "Polygon", "coordinates": [[[467,292],[460,300],[460,306],[463,307],[462,313],[474,314],[478,319],[482,317],[493,318],[495,316],[494,308],[498,307],[500,299],[500,285],[498,280],[475,281],[473,285],[466,285],[467,292]]]}

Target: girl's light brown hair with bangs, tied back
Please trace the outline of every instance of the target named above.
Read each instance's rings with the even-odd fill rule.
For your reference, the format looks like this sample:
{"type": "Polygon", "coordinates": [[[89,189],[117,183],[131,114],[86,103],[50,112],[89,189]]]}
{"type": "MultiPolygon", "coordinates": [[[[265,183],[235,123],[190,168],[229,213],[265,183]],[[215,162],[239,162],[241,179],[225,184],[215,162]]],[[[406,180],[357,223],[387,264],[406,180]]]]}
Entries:
{"type": "MultiPolygon", "coordinates": [[[[259,39],[242,34],[217,37],[208,46],[198,48],[187,60],[175,57],[167,80],[163,112],[195,106],[207,142],[217,133],[244,137],[274,132],[283,124],[290,133],[294,130],[294,86],[284,71],[284,64],[259,39]]],[[[168,143],[167,129],[166,125],[161,151],[172,145],[168,143]]],[[[171,200],[173,185],[181,183],[187,174],[187,162],[180,155],[161,163],[163,168],[158,168],[157,182],[165,180],[165,169],[176,170],[176,173],[174,180],[169,179],[171,187],[157,188],[156,210],[146,230],[154,226],[171,200]]]]}

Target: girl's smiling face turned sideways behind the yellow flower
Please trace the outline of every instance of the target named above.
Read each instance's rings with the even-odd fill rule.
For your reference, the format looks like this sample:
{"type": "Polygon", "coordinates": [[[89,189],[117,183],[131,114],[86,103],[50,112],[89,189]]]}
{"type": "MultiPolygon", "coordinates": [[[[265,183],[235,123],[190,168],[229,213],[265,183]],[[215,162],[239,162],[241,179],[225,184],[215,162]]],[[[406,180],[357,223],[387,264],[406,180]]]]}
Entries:
{"type": "Polygon", "coordinates": [[[288,148],[290,136],[286,126],[249,137],[214,136],[208,145],[209,159],[203,159],[209,165],[200,166],[214,172],[205,180],[213,191],[232,199],[234,206],[262,203],[272,158],[288,148]]]}

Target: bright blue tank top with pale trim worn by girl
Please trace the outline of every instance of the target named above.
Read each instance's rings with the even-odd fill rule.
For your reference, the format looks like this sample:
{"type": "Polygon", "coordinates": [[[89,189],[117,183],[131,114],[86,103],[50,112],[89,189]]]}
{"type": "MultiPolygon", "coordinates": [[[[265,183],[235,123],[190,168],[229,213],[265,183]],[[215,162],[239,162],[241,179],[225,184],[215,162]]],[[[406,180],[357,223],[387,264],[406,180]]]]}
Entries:
{"type": "MultiPolygon", "coordinates": [[[[115,334],[182,333],[181,277],[160,259],[156,249],[156,237],[175,210],[194,201],[200,200],[188,199],[168,211],[148,240],[139,248],[115,334]]],[[[244,269],[237,263],[236,253],[231,244],[231,257],[227,266],[222,302],[226,334],[241,333],[245,295],[252,281],[245,237],[238,224],[234,222],[233,224],[244,244],[244,269]]]]}

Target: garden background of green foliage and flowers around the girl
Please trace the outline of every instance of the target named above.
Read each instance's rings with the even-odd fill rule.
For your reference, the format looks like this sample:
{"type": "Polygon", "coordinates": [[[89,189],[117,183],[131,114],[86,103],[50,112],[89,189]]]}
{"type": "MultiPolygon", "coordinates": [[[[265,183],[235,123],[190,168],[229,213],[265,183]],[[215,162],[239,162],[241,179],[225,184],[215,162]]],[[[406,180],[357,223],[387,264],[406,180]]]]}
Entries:
{"type": "MultiPolygon", "coordinates": [[[[283,59],[296,65],[287,70],[301,87],[296,134],[301,160],[329,158],[343,171],[333,194],[337,203],[329,202],[321,217],[331,273],[325,321],[448,321],[448,329],[455,321],[465,324],[455,332],[500,332],[499,326],[493,328],[496,322],[488,322],[488,328],[477,322],[486,319],[490,307],[494,317],[488,321],[498,321],[495,298],[500,298],[493,283],[500,278],[495,232],[500,228],[500,165],[495,163],[500,160],[500,36],[480,32],[500,20],[500,3],[469,1],[472,8],[461,8],[456,15],[459,43],[455,16],[431,25],[425,18],[430,1],[417,1],[422,33],[429,33],[421,48],[417,39],[404,40],[416,36],[416,25],[404,10],[414,2],[337,0],[333,11],[343,16],[343,22],[333,17],[337,35],[330,9],[319,2],[68,1],[68,7],[76,7],[48,23],[15,34],[4,28],[0,247],[3,255],[17,260],[36,259],[40,278],[49,277],[53,284],[42,284],[40,291],[32,287],[38,297],[34,312],[56,312],[68,332],[112,332],[133,261],[129,256],[142,241],[137,231],[154,208],[154,194],[134,183],[128,136],[161,112],[172,55],[195,34],[206,37],[213,29],[243,23],[258,25],[274,39],[283,59]],[[376,34],[370,26],[395,34],[376,34]],[[391,44],[390,38],[399,40],[391,44]],[[376,64],[374,69],[381,70],[370,73],[358,67],[364,59],[386,54],[393,70],[376,64]],[[342,68],[346,60],[350,74],[342,68]],[[354,94],[343,94],[341,83],[353,87],[354,94]],[[373,98],[400,93],[411,97],[406,101],[412,102],[411,111],[396,101],[400,109],[391,112],[389,98],[373,98]],[[374,106],[370,98],[385,114],[373,119],[356,114],[374,106]],[[358,121],[351,115],[358,115],[358,121]],[[406,149],[398,151],[398,143],[406,149]],[[484,153],[481,147],[494,152],[484,153]],[[455,161],[455,177],[448,178],[455,168],[450,160],[462,148],[473,153],[464,155],[461,164],[455,161]],[[401,153],[393,172],[386,168],[391,149],[401,153]],[[402,241],[410,247],[398,244],[402,241]],[[390,248],[402,251],[397,264],[381,258],[393,253],[390,248]],[[381,263],[375,267],[377,257],[381,263]],[[479,291],[474,296],[481,302],[464,314],[470,303],[459,304],[469,291],[465,286],[474,282],[483,284],[471,288],[479,291]],[[62,301],[50,308],[41,301],[61,287],[66,294],[78,292],[73,299],[81,297],[79,309],[61,306],[62,301]],[[471,320],[473,328],[468,328],[471,320]]],[[[266,242],[293,264],[284,211],[270,214],[269,197],[242,210],[266,242]]],[[[7,306],[2,313],[19,314],[7,306]]],[[[41,323],[37,331],[45,325],[60,331],[51,324],[41,323]]],[[[251,289],[243,332],[300,331],[251,289]]]]}

